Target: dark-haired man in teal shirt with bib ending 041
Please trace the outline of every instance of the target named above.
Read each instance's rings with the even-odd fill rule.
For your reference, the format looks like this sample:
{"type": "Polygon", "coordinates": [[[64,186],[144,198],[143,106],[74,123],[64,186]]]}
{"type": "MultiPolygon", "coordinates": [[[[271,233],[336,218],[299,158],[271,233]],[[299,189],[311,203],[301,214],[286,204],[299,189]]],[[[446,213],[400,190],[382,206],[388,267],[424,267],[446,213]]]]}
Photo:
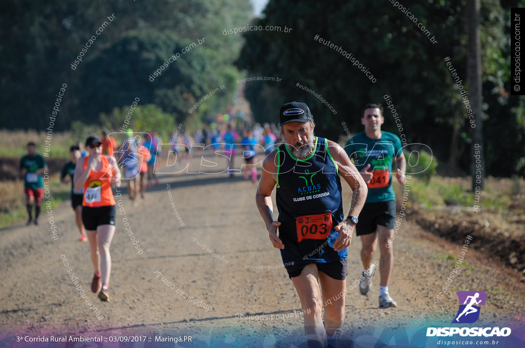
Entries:
{"type": "Polygon", "coordinates": [[[364,267],[359,289],[362,295],[367,295],[372,289],[372,276],[375,271],[372,257],[376,249],[375,241],[379,239],[380,308],[397,307],[397,303],[388,293],[388,282],[394,264],[392,244],[389,240],[394,233],[396,217],[395,194],[392,189],[393,160],[396,162],[397,182],[402,185],[406,183],[406,160],[401,139],[395,134],[381,131],[384,122],[383,107],[380,104],[366,105],[361,117],[364,132],[350,138],[344,147],[368,187],[366,202],[355,226],[356,234],[361,236],[361,260],[364,267]]]}

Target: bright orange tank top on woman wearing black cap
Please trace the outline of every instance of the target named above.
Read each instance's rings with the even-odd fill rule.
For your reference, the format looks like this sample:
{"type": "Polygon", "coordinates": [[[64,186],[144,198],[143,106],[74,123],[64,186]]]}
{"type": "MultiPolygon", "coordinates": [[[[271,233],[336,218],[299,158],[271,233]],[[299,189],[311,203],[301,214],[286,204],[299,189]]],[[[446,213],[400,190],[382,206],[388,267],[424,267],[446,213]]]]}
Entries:
{"type": "MultiPolygon", "coordinates": [[[[102,169],[99,171],[90,171],[88,179],[84,184],[83,206],[92,208],[97,206],[115,205],[113,192],[111,191],[111,178],[113,173],[109,171],[108,157],[102,155],[102,169]]],[[[84,170],[88,166],[88,157],[84,157],[84,170]]]]}

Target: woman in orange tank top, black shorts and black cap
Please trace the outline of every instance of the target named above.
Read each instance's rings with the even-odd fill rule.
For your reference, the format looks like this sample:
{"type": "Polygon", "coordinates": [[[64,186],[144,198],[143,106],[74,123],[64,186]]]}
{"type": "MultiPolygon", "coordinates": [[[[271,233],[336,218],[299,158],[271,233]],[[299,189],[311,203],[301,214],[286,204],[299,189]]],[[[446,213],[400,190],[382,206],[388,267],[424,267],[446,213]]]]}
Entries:
{"type": "Polygon", "coordinates": [[[111,191],[111,180],[120,187],[120,170],[113,156],[102,155],[102,141],[96,136],[86,139],[89,156],[77,160],[75,189],[83,187],[82,222],[88,235],[91,262],[95,275],[91,291],[98,292],[102,301],[109,301],[109,277],[111,255],[109,247],[115,233],[115,199],[111,191]]]}

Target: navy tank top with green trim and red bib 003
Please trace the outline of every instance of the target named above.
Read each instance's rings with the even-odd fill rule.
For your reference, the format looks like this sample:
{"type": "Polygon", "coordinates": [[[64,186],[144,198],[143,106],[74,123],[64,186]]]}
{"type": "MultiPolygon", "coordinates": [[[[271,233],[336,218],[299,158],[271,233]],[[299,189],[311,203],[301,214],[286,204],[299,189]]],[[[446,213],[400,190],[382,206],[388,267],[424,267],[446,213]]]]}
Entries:
{"type": "Polygon", "coordinates": [[[341,180],[327,140],[317,138],[313,154],[293,157],[286,144],[277,153],[276,201],[279,238],[285,265],[330,263],[344,259],[346,248],[333,249],[339,235],[334,230],[344,220],[341,180]]]}

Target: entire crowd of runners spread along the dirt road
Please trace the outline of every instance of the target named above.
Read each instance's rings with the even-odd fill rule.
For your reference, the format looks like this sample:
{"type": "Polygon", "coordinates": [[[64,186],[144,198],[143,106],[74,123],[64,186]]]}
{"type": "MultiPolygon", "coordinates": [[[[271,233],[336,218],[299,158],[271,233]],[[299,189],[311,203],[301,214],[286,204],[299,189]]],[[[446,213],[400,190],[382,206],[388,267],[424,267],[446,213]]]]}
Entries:
{"type": "MultiPolygon", "coordinates": [[[[344,297],[330,304],[324,302],[324,306],[323,299],[345,291],[346,247],[354,230],[362,243],[362,295],[370,296],[372,291],[376,273],[372,259],[379,244],[379,307],[397,306],[388,291],[393,267],[390,240],[396,219],[392,182],[395,173],[398,183],[406,183],[406,161],[400,138],[381,130],[384,117],[380,104],[366,105],[355,121],[359,119],[364,131],[351,137],[344,148],[314,136],[313,115],[306,104],[297,102],[281,107],[279,126],[239,127],[238,123],[228,122],[219,129],[212,124],[199,129],[193,137],[187,131],[181,133],[178,127],[167,144],[154,133],[133,133],[128,128],[119,142],[108,131],[102,131],[101,137],[92,135],[72,145],[60,178],[71,184],[79,240],[89,241],[94,270],[91,290],[98,292],[102,301],[109,301],[110,245],[116,230],[112,188],[120,187],[122,180],[134,205],[139,194],[144,200],[146,189],[159,184],[156,169],[161,162],[166,163],[170,153],[176,155],[178,165],[184,165],[189,164],[192,155],[214,156],[222,151],[227,158],[226,175],[239,173],[254,183],[260,162],[257,156],[266,156],[257,188],[257,208],[307,313],[304,331],[309,346],[335,346],[335,332],[345,317],[344,297]],[[238,166],[241,169],[235,169],[236,155],[244,160],[238,166]],[[351,202],[349,209],[343,208],[342,182],[352,190],[351,197],[344,198],[351,202]],[[274,190],[277,219],[271,198],[274,190]]],[[[36,154],[33,142],[27,144],[20,171],[27,224],[38,224],[43,174],[48,168],[45,159],[36,154]]]]}

